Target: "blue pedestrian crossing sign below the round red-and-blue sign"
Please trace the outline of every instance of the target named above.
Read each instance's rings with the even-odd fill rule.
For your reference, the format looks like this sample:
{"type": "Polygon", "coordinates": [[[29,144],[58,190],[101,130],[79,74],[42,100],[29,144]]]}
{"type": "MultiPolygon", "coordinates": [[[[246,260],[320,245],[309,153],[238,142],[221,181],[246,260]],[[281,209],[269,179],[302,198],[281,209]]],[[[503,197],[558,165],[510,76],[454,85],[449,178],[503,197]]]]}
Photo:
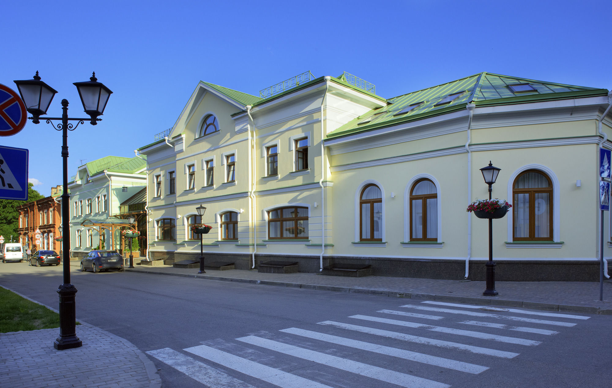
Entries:
{"type": "Polygon", "coordinates": [[[28,150],[0,146],[0,199],[28,200],[28,150]]]}

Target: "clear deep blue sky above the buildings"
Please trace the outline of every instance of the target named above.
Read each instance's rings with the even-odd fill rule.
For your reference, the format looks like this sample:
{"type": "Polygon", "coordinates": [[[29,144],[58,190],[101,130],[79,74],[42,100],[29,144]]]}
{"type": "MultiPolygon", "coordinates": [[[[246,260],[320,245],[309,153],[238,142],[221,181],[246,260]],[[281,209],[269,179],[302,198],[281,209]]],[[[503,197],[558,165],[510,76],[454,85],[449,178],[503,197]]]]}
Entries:
{"type": "MultiPolygon", "coordinates": [[[[153,141],[198,81],[258,95],[310,70],[343,71],[395,97],[483,71],[612,88],[605,1],[12,1],[2,5],[0,83],[36,70],[58,91],[47,116],[84,117],[73,82],[95,71],[111,95],[103,121],[68,135],[79,165],[153,141]],[[82,163],[81,163],[82,161],[82,163]]],[[[0,138],[30,151],[29,178],[62,184],[61,132],[28,122],[0,138]]]]}

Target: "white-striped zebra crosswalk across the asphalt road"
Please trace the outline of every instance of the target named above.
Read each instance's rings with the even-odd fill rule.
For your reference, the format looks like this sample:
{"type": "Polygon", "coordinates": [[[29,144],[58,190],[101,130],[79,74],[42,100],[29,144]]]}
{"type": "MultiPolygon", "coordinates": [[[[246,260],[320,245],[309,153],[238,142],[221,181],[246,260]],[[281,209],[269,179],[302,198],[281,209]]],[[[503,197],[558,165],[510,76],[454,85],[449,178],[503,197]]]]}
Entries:
{"type": "Polygon", "coordinates": [[[446,388],[590,318],[430,300],[398,308],[146,353],[214,388],[446,388]]]}

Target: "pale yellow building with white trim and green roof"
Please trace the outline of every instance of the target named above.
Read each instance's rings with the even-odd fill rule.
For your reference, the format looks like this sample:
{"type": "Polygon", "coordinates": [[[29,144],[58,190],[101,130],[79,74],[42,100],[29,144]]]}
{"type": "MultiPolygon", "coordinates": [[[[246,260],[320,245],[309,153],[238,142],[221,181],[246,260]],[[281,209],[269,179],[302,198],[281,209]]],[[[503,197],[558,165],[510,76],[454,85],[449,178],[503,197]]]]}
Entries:
{"type": "MultiPolygon", "coordinates": [[[[250,269],[482,280],[493,198],[498,280],[599,278],[599,148],[612,148],[607,89],[479,73],[385,99],[349,73],[310,72],[260,96],[200,82],[147,155],[149,258],[250,269]],[[605,113],[605,115],[604,115],[605,113]]],[[[612,252],[605,212],[604,256],[612,252]]]]}

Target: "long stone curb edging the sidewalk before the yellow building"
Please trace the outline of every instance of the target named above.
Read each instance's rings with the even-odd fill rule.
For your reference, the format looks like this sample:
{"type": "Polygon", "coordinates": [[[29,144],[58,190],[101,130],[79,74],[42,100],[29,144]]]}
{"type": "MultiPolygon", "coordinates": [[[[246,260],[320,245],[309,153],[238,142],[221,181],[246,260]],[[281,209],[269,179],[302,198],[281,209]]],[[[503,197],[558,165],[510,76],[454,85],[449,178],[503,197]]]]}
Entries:
{"type": "Polygon", "coordinates": [[[437,300],[439,302],[455,302],[455,303],[478,304],[478,305],[502,305],[506,307],[530,308],[532,310],[548,310],[548,311],[559,311],[559,312],[577,312],[577,313],[588,313],[588,314],[612,315],[612,307],[607,308],[607,307],[559,305],[559,304],[540,303],[540,302],[526,302],[526,301],[523,302],[520,300],[491,299],[491,298],[486,298],[486,297],[481,298],[481,297],[469,297],[469,296],[419,294],[419,293],[408,293],[408,292],[401,293],[398,291],[388,291],[384,289],[311,285],[311,284],[301,284],[301,283],[278,282],[274,280],[230,278],[230,277],[219,277],[219,276],[199,275],[199,274],[196,274],[196,275],[172,274],[170,272],[159,272],[159,271],[141,270],[141,269],[127,269],[126,268],[125,270],[130,271],[130,272],[138,272],[141,274],[193,277],[193,278],[203,278],[207,280],[221,280],[225,282],[253,283],[253,284],[270,285],[270,286],[318,289],[319,291],[337,291],[341,293],[356,293],[356,294],[404,297],[404,298],[410,298],[410,299],[437,300]]]}

